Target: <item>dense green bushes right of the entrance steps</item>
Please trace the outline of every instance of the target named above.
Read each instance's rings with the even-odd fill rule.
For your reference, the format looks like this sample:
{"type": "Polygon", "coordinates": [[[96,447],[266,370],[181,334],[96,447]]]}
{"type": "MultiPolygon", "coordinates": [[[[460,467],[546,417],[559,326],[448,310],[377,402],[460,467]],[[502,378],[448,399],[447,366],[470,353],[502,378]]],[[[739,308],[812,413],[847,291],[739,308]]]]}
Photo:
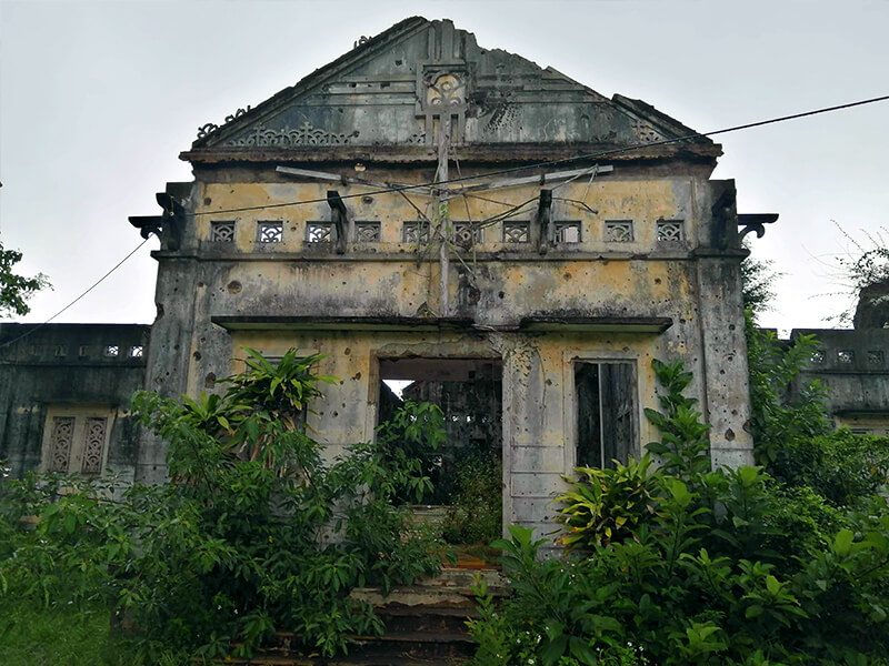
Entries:
{"type": "MultiPolygon", "coordinates": [[[[495,607],[477,591],[475,663],[887,664],[889,511],[885,495],[870,494],[886,483],[875,442],[848,432],[809,437],[820,424],[802,415],[783,431],[798,451],[770,452],[786,483],[762,467],[711,471],[707,426],[682,395],[691,376],[681,363],[655,370],[662,410],[648,416],[662,440],[649,450],[660,470],[648,455],[580,470],[560,498],[566,558],[541,559],[546,541],[510,527],[511,539],[495,545],[512,596],[495,607]],[[801,464],[811,450],[821,458],[801,464]],[[858,467],[819,472],[819,463],[862,454],[858,467]]],[[[788,412],[761,414],[763,432],[777,433],[768,420],[788,412]]]]}

